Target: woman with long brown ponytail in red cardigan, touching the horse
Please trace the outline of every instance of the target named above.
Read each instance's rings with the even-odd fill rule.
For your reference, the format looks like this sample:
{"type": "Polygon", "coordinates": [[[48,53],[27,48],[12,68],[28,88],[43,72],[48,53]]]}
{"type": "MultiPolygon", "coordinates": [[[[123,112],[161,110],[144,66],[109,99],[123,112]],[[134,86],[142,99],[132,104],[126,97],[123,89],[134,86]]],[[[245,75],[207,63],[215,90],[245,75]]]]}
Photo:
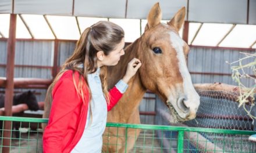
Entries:
{"type": "Polygon", "coordinates": [[[141,66],[140,60],[131,60],[125,76],[108,92],[106,66],[118,64],[124,46],[119,25],[99,21],[84,30],[53,82],[44,152],[101,152],[107,111],[122,97],[127,82],[141,66]]]}

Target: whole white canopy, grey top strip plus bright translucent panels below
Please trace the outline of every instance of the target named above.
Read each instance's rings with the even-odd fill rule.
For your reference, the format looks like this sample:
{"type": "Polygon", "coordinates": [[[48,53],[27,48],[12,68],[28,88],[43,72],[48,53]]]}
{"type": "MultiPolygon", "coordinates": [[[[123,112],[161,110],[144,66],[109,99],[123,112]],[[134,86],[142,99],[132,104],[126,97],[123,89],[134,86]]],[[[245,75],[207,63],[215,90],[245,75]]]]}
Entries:
{"type": "Polygon", "coordinates": [[[133,42],[156,2],[163,23],[186,7],[189,45],[256,48],[256,0],[0,0],[0,38],[9,37],[10,13],[16,13],[16,38],[76,40],[86,27],[109,20],[133,42]]]}

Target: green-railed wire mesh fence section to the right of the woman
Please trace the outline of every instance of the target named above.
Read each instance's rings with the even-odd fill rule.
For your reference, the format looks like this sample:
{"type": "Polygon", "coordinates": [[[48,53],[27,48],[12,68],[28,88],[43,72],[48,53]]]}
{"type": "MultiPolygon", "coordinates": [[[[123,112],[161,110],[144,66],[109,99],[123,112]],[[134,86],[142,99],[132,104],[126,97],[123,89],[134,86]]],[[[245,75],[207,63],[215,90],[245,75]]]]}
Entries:
{"type": "Polygon", "coordinates": [[[107,141],[104,147],[119,149],[119,152],[256,152],[256,144],[247,140],[248,135],[254,133],[249,131],[115,123],[108,123],[107,127],[111,134],[105,134],[103,139],[115,137],[116,143],[107,141]],[[129,130],[140,130],[137,140],[136,133],[131,135],[129,130]],[[136,140],[131,150],[129,139],[136,140]]]}

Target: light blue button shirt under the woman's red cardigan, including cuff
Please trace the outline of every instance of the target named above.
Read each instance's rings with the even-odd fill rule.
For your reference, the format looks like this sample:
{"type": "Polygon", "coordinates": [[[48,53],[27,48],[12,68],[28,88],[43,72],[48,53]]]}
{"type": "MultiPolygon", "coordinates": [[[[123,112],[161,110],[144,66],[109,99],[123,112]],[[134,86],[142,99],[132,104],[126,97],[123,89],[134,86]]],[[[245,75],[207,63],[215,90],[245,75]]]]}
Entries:
{"type": "MultiPolygon", "coordinates": [[[[90,118],[90,110],[87,112],[86,127],[81,139],[73,148],[72,153],[78,152],[101,152],[102,134],[106,127],[107,105],[104,93],[102,92],[101,79],[99,78],[100,68],[94,74],[88,74],[88,84],[91,89],[91,111],[93,118],[90,118]],[[91,122],[92,121],[92,122],[91,122]]],[[[124,93],[128,88],[127,83],[120,80],[116,88],[124,93]]]]}

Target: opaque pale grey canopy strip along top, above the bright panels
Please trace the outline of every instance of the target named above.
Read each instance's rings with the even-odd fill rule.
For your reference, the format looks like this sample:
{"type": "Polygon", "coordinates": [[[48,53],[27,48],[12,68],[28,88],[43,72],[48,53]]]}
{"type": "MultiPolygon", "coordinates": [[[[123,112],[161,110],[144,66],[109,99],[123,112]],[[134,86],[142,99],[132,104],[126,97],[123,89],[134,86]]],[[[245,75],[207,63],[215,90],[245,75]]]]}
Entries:
{"type": "Polygon", "coordinates": [[[185,6],[187,21],[256,24],[255,0],[1,0],[0,13],[146,19],[156,2],[163,20],[185,6]]]}

